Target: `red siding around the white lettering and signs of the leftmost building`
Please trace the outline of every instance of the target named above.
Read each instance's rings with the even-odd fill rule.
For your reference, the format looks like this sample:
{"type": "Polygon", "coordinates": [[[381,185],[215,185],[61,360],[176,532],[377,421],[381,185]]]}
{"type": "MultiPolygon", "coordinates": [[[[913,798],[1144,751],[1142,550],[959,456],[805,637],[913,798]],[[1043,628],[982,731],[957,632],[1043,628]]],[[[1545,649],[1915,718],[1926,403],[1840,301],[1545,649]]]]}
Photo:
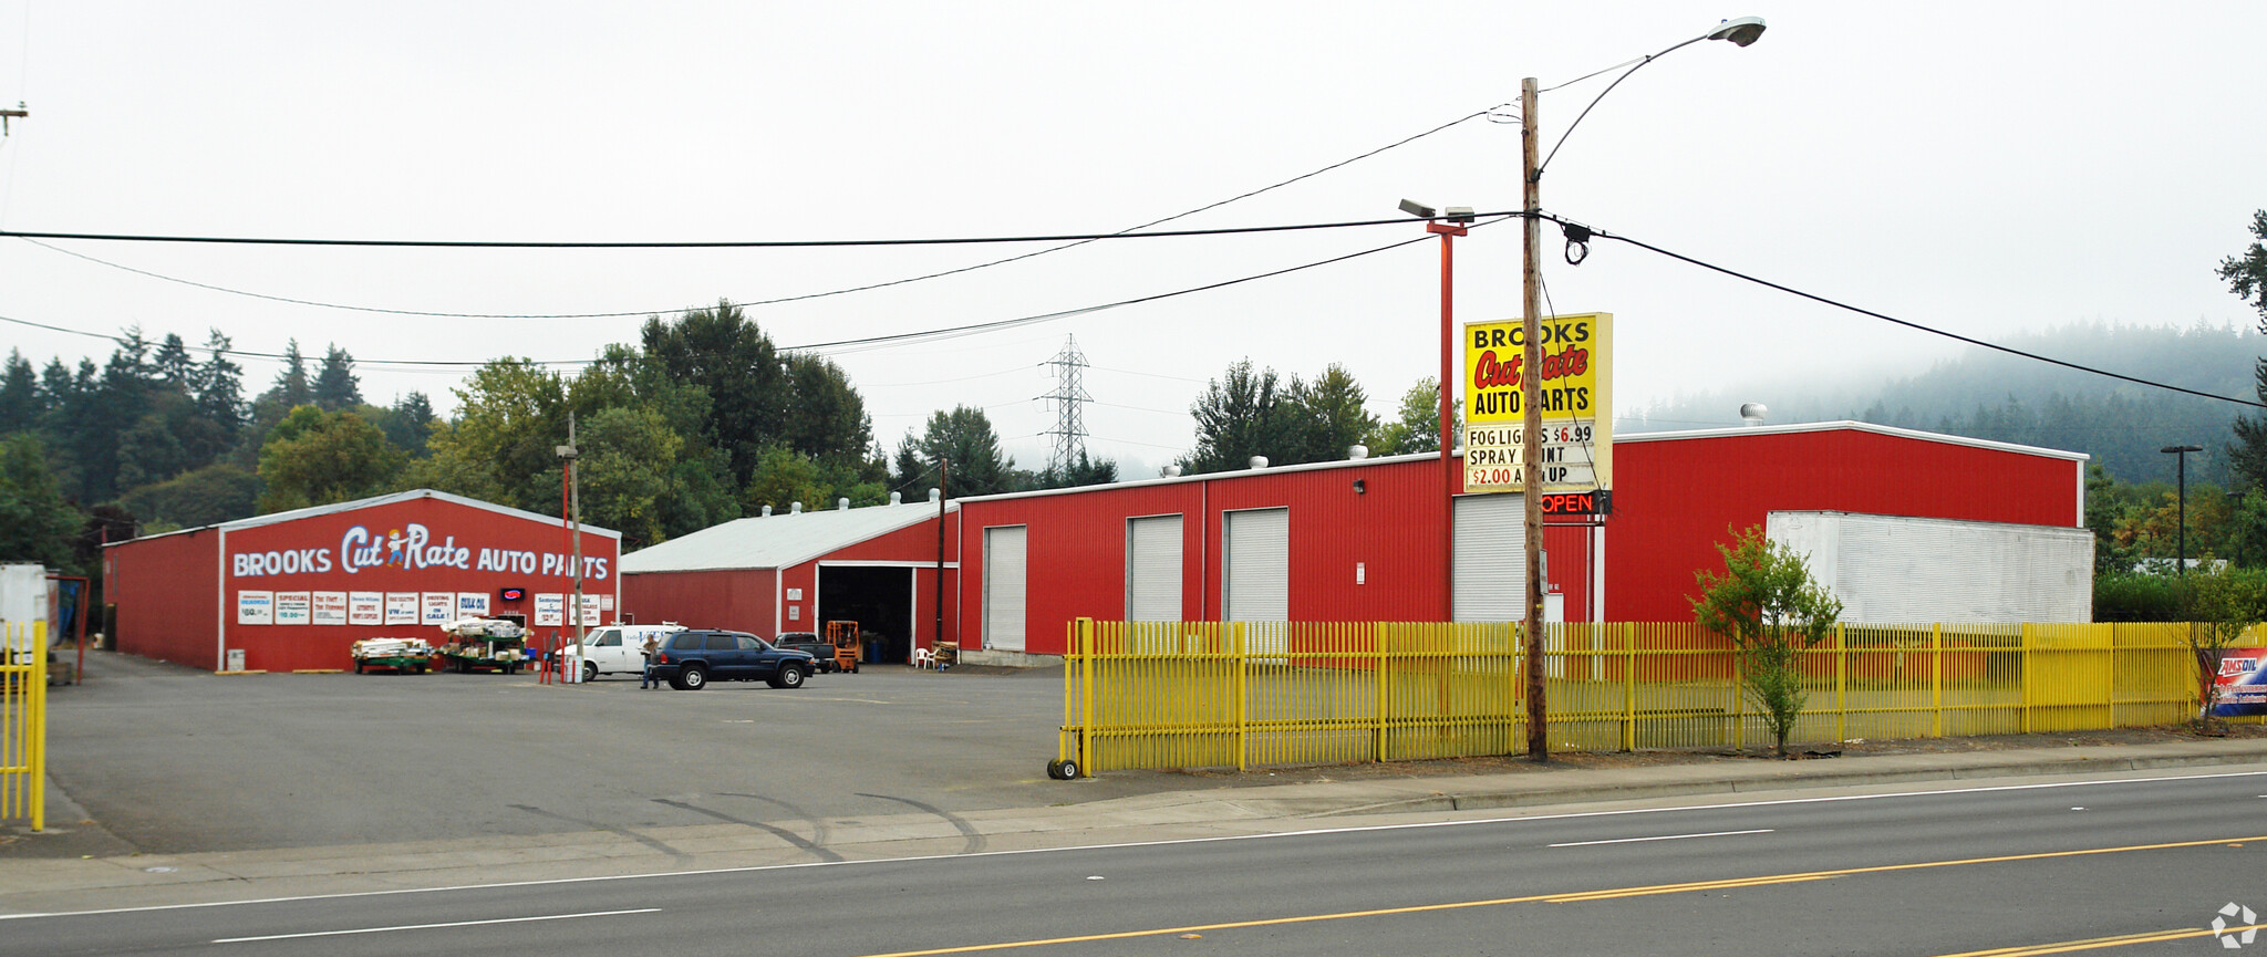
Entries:
{"type": "MultiPolygon", "coordinates": [[[[172,617],[172,601],[202,594],[197,619],[202,649],[186,637],[163,640],[163,651],[154,658],[179,660],[195,667],[218,667],[213,660],[213,621],[224,621],[227,646],[245,649],[245,667],[254,671],[338,669],[349,664],[347,649],[363,637],[413,635],[440,640],[442,633],[424,624],[304,624],[304,626],[258,626],[236,624],[236,592],[485,592],[492,612],[517,612],[533,621],[535,592],[569,592],[574,567],[567,531],[558,522],[535,522],[487,508],[460,506],[444,499],[408,499],[356,508],[347,513],[311,515],[252,528],[229,528],[229,556],[206,556],[202,565],[165,562],[145,556],[163,556],[168,542],[197,540],[211,549],[218,531],[193,535],[127,542],[113,549],[113,560],[127,567],[141,583],[165,578],[163,585],[141,590],[129,585],[118,596],[120,621],[150,621],[150,617],[172,617]],[[426,549],[419,558],[392,551],[385,544],[399,531],[424,528],[426,549]],[[356,537],[349,537],[356,535],[356,537]],[[379,544],[370,562],[351,562],[349,551],[356,540],[379,544]],[[236,556],[299,551],[320,558],[315,571],[268,571],[238,567],[236,556]],[[499,567],[492,560],[521,556],[535,571],[499,567]],[[544,558],[555,560],[555,569],[544,558]],[[528,599],[501,601],[496,592],[506,585],[526,587],[528,599]],[[213,603],[220,601],[220,608],[213,603]],[[172,651],[181,646],[184,651],[172,651]],[[186,653],[186,658],[170,658],[186,653]]],[[[583,556],[587,565],[585,592],[614,594],[614,567],[619,565],[617,540],[585,533],[583,556]]],[[[163,626],[172,633],[172,626],[163,626]]],[[[181,626],[190,628],[190,626],[181,626]]],[[[193,630],[184,630],[188,635],[193,630]]],[[[125,651],[138,651],[120,642],[125,651]]]]}

